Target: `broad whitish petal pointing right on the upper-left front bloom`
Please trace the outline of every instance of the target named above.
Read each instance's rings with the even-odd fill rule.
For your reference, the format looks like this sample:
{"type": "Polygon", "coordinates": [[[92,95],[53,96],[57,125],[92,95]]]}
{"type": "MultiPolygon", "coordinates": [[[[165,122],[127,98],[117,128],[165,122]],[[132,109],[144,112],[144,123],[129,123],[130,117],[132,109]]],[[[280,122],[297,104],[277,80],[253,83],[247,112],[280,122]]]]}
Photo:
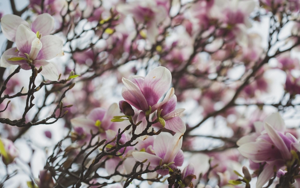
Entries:
{"type": "Polygon", "coordinates": [[[43,48],[38,54],[38,60],[50,60],[56,57],[62,50],[64,43],[61,38],[54,35],[46,35],[41,38],[43,48]]]}

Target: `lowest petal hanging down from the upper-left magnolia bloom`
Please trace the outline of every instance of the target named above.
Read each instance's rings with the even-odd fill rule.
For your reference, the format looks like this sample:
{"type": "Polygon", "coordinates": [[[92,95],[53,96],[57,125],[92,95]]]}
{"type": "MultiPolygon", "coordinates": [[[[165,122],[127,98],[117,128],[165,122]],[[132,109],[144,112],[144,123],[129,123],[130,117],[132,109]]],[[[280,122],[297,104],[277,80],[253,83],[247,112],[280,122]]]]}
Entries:
{"type": "Polygon", "coordinates": [[[34,60],[33,63],[36,67],[43,66],[41,75],[43,75],[46,79],[50,81],[58,80],[57,69],[52,63],[49,63],[48,61],[44,61],[44,60],[34,60]]]}

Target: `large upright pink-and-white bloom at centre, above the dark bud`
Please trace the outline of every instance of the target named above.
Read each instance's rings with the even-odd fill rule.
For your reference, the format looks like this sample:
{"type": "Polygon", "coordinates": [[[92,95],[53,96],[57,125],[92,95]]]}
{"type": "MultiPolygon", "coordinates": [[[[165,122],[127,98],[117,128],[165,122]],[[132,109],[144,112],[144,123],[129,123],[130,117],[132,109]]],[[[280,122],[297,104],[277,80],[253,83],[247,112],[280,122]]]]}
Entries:
{"type": "Polygon", "coordinates": [[[170,87],[171,80],[171,72],[162,66],[154,68],[146,77],[131,76],[130,80],[122,78],[126,87],[122,89],[122,96],[138,110],[146,112],[151,106],[151,112],[154,112],[173,97],[174,88],[171,88],[164,100],[158,103],[170,87]]]}

